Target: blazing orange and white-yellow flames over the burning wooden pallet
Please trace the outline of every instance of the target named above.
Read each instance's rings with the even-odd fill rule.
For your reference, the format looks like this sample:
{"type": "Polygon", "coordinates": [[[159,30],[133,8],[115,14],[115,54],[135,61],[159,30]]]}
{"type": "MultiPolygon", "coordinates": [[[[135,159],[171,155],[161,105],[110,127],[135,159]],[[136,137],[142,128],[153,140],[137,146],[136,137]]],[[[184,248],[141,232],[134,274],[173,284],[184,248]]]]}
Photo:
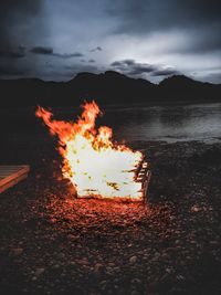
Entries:
{"type": "Polygon", "coordinates": [[[51,135],[59,137],[63,177],[71,180],[78,197],[143,198],[141,183],[135,180],[143,154],[114,143],[109,127],[95,128],[95,119],[102,114],[95,102],[82,108],[76,123],[55,120],[40,106],[35,113],[51,135]]]}

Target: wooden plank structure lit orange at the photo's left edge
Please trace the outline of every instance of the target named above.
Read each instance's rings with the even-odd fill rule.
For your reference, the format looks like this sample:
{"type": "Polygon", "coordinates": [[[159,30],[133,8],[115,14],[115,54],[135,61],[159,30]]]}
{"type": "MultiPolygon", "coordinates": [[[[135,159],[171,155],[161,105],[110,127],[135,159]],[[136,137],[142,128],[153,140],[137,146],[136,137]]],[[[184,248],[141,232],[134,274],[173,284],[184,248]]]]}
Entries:
{"type": "Polygon", "coordinates": [[[25,179],[29,165],[0,165],[0,193],[25,179]]]}

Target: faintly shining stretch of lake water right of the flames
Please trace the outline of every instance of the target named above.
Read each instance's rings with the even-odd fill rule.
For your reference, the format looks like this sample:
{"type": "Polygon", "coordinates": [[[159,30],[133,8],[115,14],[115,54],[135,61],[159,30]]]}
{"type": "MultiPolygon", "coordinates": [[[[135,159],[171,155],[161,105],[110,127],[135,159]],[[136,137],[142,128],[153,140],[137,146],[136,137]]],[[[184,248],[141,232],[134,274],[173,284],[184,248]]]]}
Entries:
{"type": "Polygon", "coordinates": [[[107,108],[104,122],[126,140],[221,140],[221,104],[107,108]]]}

